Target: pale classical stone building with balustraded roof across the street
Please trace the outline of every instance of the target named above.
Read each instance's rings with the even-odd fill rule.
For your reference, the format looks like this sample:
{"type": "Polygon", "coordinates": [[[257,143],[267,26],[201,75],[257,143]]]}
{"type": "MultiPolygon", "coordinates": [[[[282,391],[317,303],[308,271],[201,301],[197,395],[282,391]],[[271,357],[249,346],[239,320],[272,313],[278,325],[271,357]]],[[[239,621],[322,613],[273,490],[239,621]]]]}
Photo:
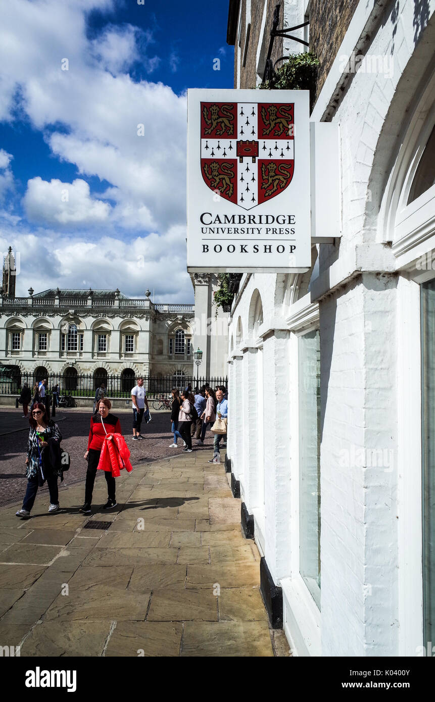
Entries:
{"type": "MultiPolygon", "coordinates": [[[[13,267],[9,252],[4,281],[14,279],[13,267]]],[[[153,304],[149,291],[133,299],[119,290],[30,288],[27,298],[2,290],[0,364],[38,377],[117,374],[129,383],[141,373],[182,384],[193,375],[194,317],[194,305],[153,304]]]]}

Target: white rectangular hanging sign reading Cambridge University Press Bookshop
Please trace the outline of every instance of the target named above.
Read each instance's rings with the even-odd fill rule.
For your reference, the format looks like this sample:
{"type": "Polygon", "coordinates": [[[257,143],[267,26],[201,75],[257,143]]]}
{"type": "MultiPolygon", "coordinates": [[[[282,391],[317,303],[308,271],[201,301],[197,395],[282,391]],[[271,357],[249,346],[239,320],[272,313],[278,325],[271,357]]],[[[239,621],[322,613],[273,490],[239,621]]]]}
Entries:
{"type": "Polygon", "coordinates": [[[189,272],[311,267],[309,91],[189,90],[189,272]]]}

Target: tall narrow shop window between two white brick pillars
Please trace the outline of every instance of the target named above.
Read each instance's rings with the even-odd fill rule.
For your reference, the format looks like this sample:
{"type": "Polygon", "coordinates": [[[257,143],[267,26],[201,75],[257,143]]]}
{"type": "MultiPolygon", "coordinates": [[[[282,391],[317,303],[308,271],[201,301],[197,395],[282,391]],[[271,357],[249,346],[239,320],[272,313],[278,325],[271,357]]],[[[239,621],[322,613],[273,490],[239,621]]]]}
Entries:
{"type": "Polygon", "coordinates": [[[320,608],[320,334],[299,338],[299,571],[320,608]]]}

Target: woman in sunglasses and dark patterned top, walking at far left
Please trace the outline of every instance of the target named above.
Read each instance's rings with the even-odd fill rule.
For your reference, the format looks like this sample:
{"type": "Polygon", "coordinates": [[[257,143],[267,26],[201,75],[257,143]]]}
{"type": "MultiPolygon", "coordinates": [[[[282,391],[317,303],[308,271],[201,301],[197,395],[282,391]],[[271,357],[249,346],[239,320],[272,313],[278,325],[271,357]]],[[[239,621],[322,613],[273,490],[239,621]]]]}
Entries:
{"type": "Polygon", "coordinates": [[[62,473],[60,442],[62,435],[56,422],[48,419],[46,406],[36,402],[29,417],[30,432],[27,442],[26,477],[27,489],[22,508],[15,512],[17,517],[29,519],[37,496],[38,488],[47,481],[50,494],[48,512],[58,512],[58,477],[62,473]]]}

